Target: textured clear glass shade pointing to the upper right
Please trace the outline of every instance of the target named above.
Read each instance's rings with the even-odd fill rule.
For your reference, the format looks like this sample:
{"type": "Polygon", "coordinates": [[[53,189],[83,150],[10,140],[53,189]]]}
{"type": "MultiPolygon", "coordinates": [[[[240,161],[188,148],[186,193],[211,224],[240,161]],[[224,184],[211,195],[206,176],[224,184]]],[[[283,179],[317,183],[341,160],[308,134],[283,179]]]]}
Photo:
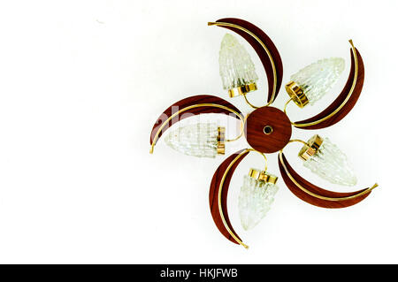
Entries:
{"type": "Polygon", "coordinates": [[[343,58],[324,58],[296,72],[291,76],[291,80],[302,88],[309,103],[314,104],[333,88],[343,71],[343,58]]]}

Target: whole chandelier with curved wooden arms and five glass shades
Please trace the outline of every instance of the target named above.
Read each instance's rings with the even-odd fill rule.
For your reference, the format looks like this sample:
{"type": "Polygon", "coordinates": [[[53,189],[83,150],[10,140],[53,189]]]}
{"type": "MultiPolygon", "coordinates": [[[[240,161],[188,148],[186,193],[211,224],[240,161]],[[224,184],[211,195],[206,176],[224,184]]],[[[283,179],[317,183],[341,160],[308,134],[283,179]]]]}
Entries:
{"type": "Polygon", "coordinates": [[[248,248],[233,230],[226,200],[233,171],[250,152],[264,156],[265,166],[264,170],[250,169],[249,175],[245,175],[243,179],[238,208],[241,225],[245,230],[253,228],[265,216],[278,191],[278,177],[267,171],[267,153],[279,151],[279,171],[286,186],[302,201],[312,205],[332,209],[345,208],[361,202],[371,194],[371,190],[377,187],[377,184],[348,193],[333,192],[315,186],[303,179],[283,154],[287,144],[300,142],[303,146],[298,156],[302,159],[304,167],[331,183],[342,186],[356,185],[356,176],[347,156],[327,137],[315,134],[310,140],[302,141],[292,139],[291,136],[292,126],[304,130],[333,126],[354,107],[364,85],[364,62],[354,43],[349,41],[351,69],[341,94],[318,115],[292,122],[287,117],[287,104],[293,101],[298,107],[303,108],[316,103],[333,88],[344,70],[344,59],[322,59],[292,75],[290,82],[285,86],[289,99],[281,111],[271,106],[279,94],[283,75],[282,60],[271,39],[260,28],[242,19],[218,19],[216,22],[209,22],[208,25],[225,27],[241,35],[256,50],[267,75],[267,102],[258,107],[249,102],[248,93],[257,89],[255,66],[241,43],[232,34],[226,34],[219,51],[219,73],[223,87],[230,97],[242,96],[255,110],[244,116],[232,103],[214,95],[194,95],[180,100],[167,108],[153,126],[150,134],[150,153],[153,153],[161,135],[183,118],[203,113],[219,113],[230,115],[241,122],[241,133],[232,140],[226,139],[226,128],[215,123],[180,126],[165,137],[165,142],[170,147],[190,156],[224,155],[226,144],[243,135],[251,146],[228,156],[218,166],[211,179],[210,212],[219,232],[233,243],[248,248]]]}

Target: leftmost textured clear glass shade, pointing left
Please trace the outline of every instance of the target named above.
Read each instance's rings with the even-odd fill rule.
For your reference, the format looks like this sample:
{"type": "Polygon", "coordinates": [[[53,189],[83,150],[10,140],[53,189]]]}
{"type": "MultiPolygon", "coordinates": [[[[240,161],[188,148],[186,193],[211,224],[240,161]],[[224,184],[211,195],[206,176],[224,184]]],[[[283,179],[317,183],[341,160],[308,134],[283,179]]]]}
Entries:
{"type": "Polygon", "coordinates": [[[165,137],[172,149],[188,156],[215,157],[218,154],[218,126],[198,123],[180,126],[165,137]]]}

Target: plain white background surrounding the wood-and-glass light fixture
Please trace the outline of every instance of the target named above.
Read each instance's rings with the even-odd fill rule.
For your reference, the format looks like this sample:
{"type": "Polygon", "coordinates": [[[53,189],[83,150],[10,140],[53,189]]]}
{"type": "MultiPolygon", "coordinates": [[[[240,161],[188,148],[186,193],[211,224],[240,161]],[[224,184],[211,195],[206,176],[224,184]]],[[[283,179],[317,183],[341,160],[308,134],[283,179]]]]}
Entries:
{"type": "MultiPolygon", "coordinates": [[[[398,263],[395,1],[7,1],[0,4],[0,263],[398,263]],[[249,250],[226,240],[208,206],[210,179],[227,156],[181,155],[161,138],[149,155],[158,115],[188,95],[229,99],[218,75],[224,17],[247,19],[272,38],[283,85],[323,57],[346,70],[313,107],[292,103],[292,120],[318,113],[340,93],[348,39],[365,64],[356,107],[338,125],[294,129],[328,136],[348,155],[357,187],[328,185],[287,157],[306,179],[338,191],[379,183],[356,206],[320,209],[279,179],[272,210],[249,232],[237,210],[242,176],[262,167],[248,156],[231,183],[228,207],[249,250]]],[[[259,75],[263,103],[265,74],[259,75]]],[[[275,106],[287,100],[283,88],[275,106]]],[[[216,118],[220,123],[223,118],[216,118]]],[[[192,122],[192,120],[190,121],[192,122]]],[[[241,141],[228,152],[246,148],[241,141]]],[[[276,154],[269,171],[279,175],[276,154]]]]}

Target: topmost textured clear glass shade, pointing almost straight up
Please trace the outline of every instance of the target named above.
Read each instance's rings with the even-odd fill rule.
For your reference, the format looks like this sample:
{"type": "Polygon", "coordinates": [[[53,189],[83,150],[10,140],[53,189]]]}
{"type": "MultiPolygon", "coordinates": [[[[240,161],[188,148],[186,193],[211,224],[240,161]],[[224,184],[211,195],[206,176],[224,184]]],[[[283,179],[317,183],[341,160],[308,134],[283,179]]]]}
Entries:
{"type": "Polygon", "coordinates": [[[219,75],[224,89],[238,88],[258,80],[249,53],[231,34],[226,34],[219,50],[219,75]]]}

